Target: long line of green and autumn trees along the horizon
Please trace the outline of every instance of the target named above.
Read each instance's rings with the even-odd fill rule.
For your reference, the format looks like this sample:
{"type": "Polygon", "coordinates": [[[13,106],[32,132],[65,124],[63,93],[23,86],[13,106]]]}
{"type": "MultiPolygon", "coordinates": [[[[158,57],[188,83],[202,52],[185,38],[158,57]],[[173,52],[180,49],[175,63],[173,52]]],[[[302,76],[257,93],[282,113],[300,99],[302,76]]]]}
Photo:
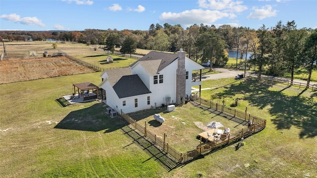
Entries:
{"type": "MultiPolygon", "coordinates": [[[[263,25],[258,30],[247,27],[194,24],[186,29],[180,25],[151,24],[149,30],[85,29],[84,31],[1,31],[2,41],[46,41],[47,39],[77,42],[87,45],[101,45],[104,50],[114,51],[121,47],[122,53],[132,54],[136,48],[158,51],[186,51],[189,58],[222,66],[228,61],[228,51],[237,50],[242,58],[246,51],[252,53],[251,64],[258,66],[258,75],[273,76],[291,74],[293,81],[296,70],[309,74],[317,68],[315,29],[297,29],[295,21],[274,27],[263,25]]],[[[211,66],[212,67],[212,66],[211,66]]]]}

